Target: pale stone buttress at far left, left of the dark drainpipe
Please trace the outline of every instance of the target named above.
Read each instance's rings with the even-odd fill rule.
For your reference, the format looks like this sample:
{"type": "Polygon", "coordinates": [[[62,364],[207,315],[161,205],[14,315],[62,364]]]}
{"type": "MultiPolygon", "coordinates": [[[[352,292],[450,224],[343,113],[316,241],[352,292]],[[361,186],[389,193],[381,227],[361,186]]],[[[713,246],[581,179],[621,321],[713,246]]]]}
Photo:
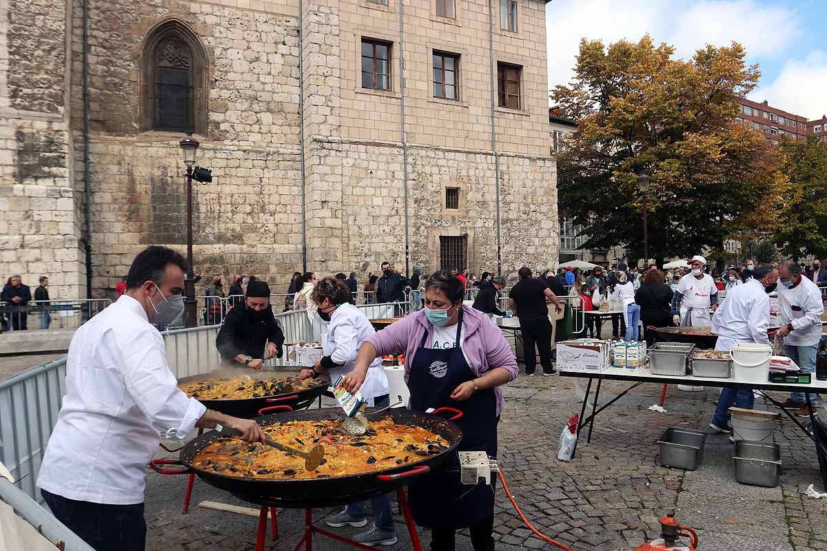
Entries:
{"type": "Polygon", "coordinates": [[[70,174],[62,0],[0,4],[0,278],[82,297],[81,227],[70,174]]]}

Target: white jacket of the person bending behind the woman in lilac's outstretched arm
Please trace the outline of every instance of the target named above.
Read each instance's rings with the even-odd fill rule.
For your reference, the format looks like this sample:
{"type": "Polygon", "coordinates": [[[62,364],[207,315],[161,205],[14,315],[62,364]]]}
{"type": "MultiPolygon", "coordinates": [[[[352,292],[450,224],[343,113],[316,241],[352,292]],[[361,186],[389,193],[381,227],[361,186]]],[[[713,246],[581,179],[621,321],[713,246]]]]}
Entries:
{"type": "MultiPolygon", "coordinates": [[[[351,304],[342,304],[333,311],[327,322],[327,333],[322,334],[322,353],[330,356],[333,363],[342,365],[330,370],[331,382],[336,382],[339,375],[351,373],[356,367],[356,354],[359,347],[376,330],[363,311],[351,304]]],[[[367,400],[367,405],[374,406],[374,398],[390,394],[388,376],[382,368],[382,359],[370,363],[365,382],[359,389],[367,400]]]]}

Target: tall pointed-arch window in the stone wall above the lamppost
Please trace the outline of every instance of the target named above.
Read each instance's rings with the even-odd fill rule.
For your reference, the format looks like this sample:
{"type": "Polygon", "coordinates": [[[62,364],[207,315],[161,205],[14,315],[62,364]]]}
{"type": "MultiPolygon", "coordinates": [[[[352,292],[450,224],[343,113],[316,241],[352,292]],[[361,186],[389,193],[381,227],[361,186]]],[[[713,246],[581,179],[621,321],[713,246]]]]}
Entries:
{"type": "Polygon", "coordinates": [[[141,55],[145,131],[207,130],[207,55],[182,21],[164,21],[150,31],[141,55]]]}

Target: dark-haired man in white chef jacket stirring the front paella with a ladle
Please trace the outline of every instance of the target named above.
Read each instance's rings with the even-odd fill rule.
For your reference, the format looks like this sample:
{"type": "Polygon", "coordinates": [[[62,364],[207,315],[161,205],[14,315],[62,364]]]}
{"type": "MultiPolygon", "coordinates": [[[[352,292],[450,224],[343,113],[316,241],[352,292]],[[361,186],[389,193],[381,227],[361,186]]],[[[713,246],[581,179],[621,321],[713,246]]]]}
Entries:
{"type": "Polygon", "coordinates": [[[176,386],[153,323],[184,311],[184,258],[139,253],[117,302],[81,325],[69,344],[66,396],[37,485],[55,517],[97,551],[143,551],[146,463],[161,435],[184,439],[217,423],[264,442],[254,420],[206,409],[176,386]]]}

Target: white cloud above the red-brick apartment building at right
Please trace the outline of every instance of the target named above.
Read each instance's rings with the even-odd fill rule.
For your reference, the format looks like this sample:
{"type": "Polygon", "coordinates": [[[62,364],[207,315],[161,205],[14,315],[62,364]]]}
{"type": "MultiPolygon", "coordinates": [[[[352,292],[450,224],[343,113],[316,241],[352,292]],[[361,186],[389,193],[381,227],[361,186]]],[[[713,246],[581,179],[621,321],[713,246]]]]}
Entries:
{"type": "Polygon", "coordinates": [[[748,97],[754,102],[766,99],[772,106],[813,120],[827,114],[825,90],[827,52],[813,50],[803,60],[787,61],[772,83],[756,88],[748,97]]]}

